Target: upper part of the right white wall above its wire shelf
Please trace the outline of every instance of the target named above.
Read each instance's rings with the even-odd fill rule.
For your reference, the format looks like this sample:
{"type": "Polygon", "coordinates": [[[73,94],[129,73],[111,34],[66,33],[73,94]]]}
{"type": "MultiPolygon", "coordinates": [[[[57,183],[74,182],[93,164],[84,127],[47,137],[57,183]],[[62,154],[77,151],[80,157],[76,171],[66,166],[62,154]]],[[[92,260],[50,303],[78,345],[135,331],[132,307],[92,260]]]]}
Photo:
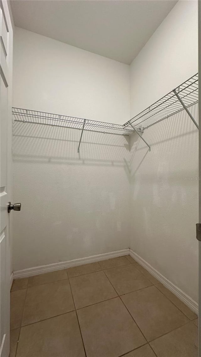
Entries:
{"type": "Polygon", "coordinates": [[[178,1],[131,64],[131,117],[196,74],[197,1],[178,1]]]}

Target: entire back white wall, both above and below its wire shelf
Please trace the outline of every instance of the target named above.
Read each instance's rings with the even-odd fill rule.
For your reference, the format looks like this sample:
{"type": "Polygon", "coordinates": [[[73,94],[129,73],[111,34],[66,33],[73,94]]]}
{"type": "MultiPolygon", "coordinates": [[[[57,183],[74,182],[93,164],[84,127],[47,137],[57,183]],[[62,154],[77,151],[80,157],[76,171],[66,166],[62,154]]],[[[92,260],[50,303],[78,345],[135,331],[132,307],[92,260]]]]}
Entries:
{"type": "MultiPolygon", "coordinates": [[[[13,106],[109,122],[129,117],[129,66],[16,28],[13,106]]],[[[129,144],[14,123],[13,270],[129,246],[129,144]]]]}

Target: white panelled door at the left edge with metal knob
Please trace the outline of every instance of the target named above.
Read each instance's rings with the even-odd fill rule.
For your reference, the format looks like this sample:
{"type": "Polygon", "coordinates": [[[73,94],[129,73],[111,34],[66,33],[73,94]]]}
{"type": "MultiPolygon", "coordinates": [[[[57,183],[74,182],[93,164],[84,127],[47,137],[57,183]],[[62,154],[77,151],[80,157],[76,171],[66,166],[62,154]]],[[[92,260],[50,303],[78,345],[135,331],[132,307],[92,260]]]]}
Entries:
{"type": "Polygon", "coordinates": [[[0,357],[9,356],[13,29],[7,1],[0,1],[0,357]]]}

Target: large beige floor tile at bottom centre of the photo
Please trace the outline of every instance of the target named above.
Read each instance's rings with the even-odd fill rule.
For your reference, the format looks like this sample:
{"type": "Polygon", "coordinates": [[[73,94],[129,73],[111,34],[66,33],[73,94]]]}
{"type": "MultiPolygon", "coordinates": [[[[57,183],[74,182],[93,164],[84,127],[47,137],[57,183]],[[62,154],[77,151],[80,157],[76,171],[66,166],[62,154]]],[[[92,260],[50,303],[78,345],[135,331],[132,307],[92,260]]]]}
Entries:
{"type": "Polygon", "coordinates": [[[146,343],[119,297],[77,313],[87,357],[117,357],[146,343]]]}

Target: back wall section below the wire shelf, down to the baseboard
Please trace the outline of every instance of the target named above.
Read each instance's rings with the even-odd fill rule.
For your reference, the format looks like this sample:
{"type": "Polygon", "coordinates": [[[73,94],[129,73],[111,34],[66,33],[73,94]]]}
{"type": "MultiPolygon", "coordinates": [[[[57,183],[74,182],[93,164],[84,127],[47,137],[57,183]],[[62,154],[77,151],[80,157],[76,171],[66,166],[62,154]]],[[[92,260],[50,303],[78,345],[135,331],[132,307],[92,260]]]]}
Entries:
{"type": "Polygon", "coordinates": [[[15,122],[13,269],[129,247],[123,136],[15,122]]]}

